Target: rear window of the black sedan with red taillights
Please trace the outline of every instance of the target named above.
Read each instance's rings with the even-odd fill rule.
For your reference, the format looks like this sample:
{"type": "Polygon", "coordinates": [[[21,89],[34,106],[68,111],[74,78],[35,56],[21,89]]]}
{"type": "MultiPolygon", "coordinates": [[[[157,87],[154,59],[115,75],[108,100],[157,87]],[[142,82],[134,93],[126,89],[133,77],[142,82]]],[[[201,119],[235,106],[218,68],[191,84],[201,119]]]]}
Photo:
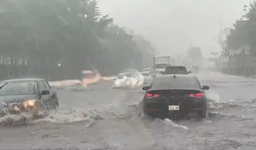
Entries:
{"type": "Polygon", "coordinates": [[[152,82],[153,89],[179,89],[186,87],[199,87],[195,78],[193,77],[170,77],[158,78],[152,82]]]}

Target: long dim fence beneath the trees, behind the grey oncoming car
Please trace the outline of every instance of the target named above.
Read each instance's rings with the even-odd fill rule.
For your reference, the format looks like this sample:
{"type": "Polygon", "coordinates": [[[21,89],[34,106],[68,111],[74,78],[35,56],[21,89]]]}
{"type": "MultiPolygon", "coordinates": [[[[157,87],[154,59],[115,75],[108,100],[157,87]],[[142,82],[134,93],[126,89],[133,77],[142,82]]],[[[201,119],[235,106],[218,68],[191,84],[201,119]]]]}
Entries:
{"type": "Polygon", "coordinates": [[[58,66],[56,61],[42,61],[42,58],[0,55],[0,80],[19,77],[40,77],[47,80],[77,79],[79,68],[58,66]],[[71,69],[70,69],[71,68],[71,69]]]}

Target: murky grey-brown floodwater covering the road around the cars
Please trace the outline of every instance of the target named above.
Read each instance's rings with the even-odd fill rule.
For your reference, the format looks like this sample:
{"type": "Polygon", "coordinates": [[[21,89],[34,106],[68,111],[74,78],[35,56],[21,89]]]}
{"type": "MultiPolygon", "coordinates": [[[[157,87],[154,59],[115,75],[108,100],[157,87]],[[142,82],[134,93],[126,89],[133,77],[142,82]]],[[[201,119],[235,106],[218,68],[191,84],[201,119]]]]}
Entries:
{"type": "MultiPolygon", "coordinates": [[[[204,121],[143,119],[138,116],[139,89],[61,89],[58,112],[1,126],[0,149],[255,149],[256,80],[220,73],[196,76],[210,87],[204,121]]],[[[26,116],[0,121],[19,117],[26,116]]]]}

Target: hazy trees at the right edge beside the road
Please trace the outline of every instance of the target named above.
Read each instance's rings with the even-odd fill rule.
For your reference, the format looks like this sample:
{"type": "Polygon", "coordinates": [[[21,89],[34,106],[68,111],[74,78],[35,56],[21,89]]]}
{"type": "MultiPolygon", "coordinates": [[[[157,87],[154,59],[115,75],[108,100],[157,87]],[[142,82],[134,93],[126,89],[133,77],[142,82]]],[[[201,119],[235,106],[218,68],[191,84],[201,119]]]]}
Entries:
{"type": "Polygon", "coordinates": [[[223,54],[229,56],[229,66],[237,68],[234,74],[248,76],[256,73],[256,2],[244,4],[243,10],[244,15],[230,29],[223,54]]]}

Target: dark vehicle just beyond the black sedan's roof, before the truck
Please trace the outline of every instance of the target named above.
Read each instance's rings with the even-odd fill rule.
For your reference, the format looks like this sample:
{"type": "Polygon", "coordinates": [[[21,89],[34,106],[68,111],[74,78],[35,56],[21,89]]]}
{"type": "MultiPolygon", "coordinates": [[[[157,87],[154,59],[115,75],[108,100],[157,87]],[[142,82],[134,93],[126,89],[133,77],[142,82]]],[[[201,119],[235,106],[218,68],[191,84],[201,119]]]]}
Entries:
{"type": "Polygon", "coordinates": [[[191,73],[191,71],[187,71],[186,66],[167,66],[165,70],[161,72],[162,75],[188,75],[189,73],[191,73]]]}

